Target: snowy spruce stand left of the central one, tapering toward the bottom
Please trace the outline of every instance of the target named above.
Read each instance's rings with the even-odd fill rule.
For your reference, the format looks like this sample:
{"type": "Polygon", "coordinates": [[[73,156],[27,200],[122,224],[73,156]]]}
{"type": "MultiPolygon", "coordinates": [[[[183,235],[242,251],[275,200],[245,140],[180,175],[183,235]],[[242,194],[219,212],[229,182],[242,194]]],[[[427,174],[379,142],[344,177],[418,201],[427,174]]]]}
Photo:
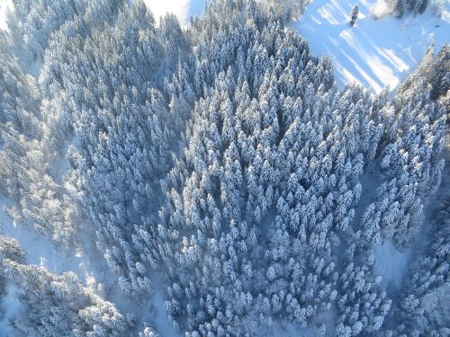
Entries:
{"type": "Polygon", "coordinates": [[[115,20],[90,27],[91,19],[67,22],[49,42],[41,82],[57,115],[47,140],[68,145],[97,245],[122,290],[135,294],[151,289],[146,268],[157,267],[159,179],[192,108],[193,65],[173,15],[156,26],[137,1],[115,20]]]}

